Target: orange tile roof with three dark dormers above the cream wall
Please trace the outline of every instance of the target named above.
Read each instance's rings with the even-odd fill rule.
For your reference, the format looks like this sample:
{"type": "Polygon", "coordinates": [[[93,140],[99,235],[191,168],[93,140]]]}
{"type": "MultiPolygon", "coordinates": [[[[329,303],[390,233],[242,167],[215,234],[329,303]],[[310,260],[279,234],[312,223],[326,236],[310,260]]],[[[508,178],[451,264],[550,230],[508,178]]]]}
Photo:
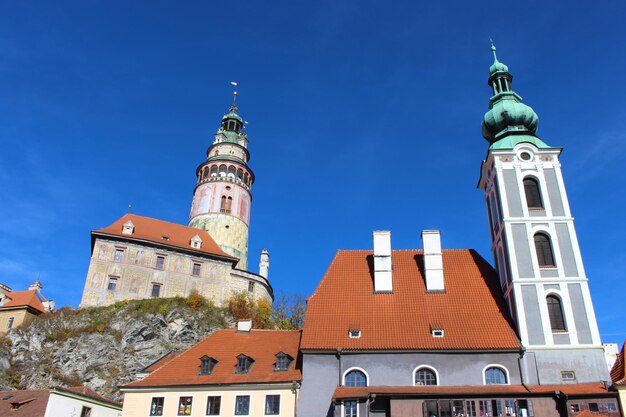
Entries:
{"type": "Polygon", "coordinates": [[[232,329],[217,330],[146,378],[131,382],[122,389],[300,381],[302,374],[297,361],[300,336],[299,330],[252,329],[249,333],[232,329]],[[274,370],[275,355],[280,352],[294,359],[287,371],[274,370]],[[240,354],[254,360],[248,373],[235,373],[237,356],[240,354]],[[200,358],[205,355],[217,360],[217,365],[212,374],[198,375],[200,358]]]}

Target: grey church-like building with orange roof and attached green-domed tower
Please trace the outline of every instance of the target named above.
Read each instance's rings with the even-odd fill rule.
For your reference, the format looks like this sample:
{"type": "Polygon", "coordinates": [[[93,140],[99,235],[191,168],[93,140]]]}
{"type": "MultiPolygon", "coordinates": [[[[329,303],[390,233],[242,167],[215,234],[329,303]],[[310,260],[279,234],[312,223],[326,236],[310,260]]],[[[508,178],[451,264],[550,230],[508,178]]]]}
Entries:
{"type": "Polygon", "coordinates": [[[307,301],[301,417],[620,416],[558,160],[495,58],[483,135],[496,268],[471,249],[339,251],[307,301]],[[581,414],[582,413],[582,414],[581,414]],[[585,414],[586,413],[586,414],[585,414]]]}

